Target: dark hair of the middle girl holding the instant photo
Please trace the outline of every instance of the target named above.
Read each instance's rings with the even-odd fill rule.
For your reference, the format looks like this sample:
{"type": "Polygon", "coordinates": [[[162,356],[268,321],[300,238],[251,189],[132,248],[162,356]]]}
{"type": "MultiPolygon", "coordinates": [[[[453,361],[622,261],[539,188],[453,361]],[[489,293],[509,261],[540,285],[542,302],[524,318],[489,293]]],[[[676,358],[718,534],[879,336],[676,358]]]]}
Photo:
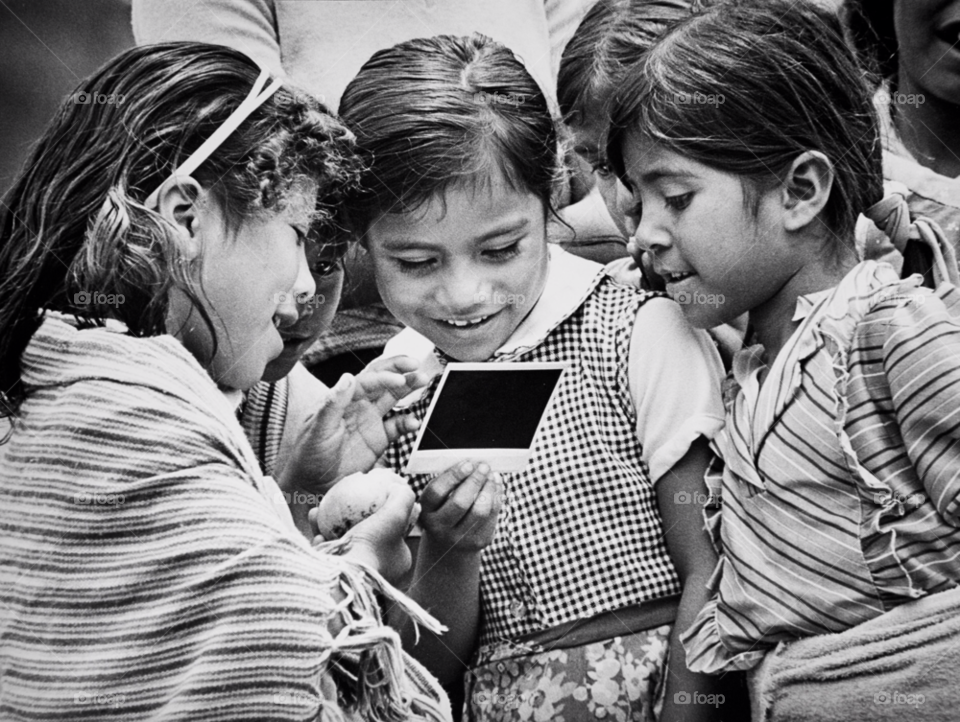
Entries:
{"type": "Polygon", "coordinates": [[[347,200],[358,234],[454,183],[482,182],[492,166],[552,208],[560,160],[547,100],[488,37],[438,35],[375,53],[344,91],[340,117],[365,166],[347,200]]]}

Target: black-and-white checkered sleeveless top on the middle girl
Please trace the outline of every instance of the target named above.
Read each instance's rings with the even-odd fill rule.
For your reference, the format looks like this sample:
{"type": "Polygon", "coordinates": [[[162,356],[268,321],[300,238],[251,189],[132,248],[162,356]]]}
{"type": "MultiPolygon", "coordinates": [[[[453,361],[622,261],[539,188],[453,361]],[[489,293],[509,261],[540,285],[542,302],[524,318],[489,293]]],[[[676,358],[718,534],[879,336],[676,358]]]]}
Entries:
{"type": "MultiPolygon", "coordinates": [[[[506,501],[480,572],[481,646],[680,592],[627,382],[634,321],[654,294],[599,274],[532,349],[496,361],[566,361],[557,397],[506,501]]],[[[439,377],[404,409],[422,419],[439,377]]],[[[387,452],[402,470],[416,435],[387,452]]],[[[419,494],[431,476],[410,477],[419,494]]]]}

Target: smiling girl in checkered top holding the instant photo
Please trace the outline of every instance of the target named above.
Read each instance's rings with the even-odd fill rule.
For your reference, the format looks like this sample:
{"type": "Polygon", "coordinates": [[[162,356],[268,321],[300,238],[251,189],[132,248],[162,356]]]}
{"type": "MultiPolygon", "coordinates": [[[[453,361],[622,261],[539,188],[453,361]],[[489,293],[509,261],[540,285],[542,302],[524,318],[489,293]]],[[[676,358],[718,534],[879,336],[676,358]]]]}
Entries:
{"type": "MultiPolygon", "coordinates": [[[[660,684],[663,719],[711,716],[675,704],[711,694],[679,646],[665,669],[712,565],[691,503],[720,425],[709,339],[669,300],[548,246],[557,131],[507,48],[397,45],[340,110],[368,164],[347,205],[409,326],[387,350],[416,349],[434,373],[447,360],[570,364],[533,459],[503,478],[499,519],[484,465],[410,479],[423,506],[410,593],[450,627],[414,653],[448,682],[469,665],[470,719],[652,719],[660,684]]],[[[395,469],[412,441],[391,448],[395,469]]]]}

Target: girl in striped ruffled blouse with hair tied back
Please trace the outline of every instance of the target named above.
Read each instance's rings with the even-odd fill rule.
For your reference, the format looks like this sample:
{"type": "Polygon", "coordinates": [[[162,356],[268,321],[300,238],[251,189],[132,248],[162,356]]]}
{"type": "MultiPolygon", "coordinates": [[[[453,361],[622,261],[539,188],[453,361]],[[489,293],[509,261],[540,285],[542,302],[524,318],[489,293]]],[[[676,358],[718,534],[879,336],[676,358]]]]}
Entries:
{"type": "Polygon", "coordinates": [[[904,631],[960,581],[956,289],[858,263],[858,212],[884,220],[880,144],[838,25],[767,0],[683,22],[623,89],[608,149],[643,206],[638,240],[694,299],[687,318],[750,315],[716,439],[725,468],[708,477],[723,494],[715,596],[685,641],[705,672],[784,643],[756,677],[774,704],[762,719],[881,719],[885,695],[922,685],[956,710],[955,677],[909,672],[943,651],[937,668],[955,670],[956,630],[928,648],[904,631]],[[696,94],[713,102],[677,102],[696,94]],[[696,302],[710,297],[724,302],[696,302]]]}

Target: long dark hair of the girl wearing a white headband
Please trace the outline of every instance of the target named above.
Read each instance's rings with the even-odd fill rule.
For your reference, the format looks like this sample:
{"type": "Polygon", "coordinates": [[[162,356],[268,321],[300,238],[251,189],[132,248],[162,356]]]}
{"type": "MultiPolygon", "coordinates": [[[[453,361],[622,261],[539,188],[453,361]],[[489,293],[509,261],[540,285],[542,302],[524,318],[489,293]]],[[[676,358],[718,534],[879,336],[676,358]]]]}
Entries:
{"type": "MultiPolygon", "coordinates": [[[[23,401],[20,357],[40,309],[93,325],[118,318],[132,335],[153,336],[166,332],[176,285],[213,332],[199,303],[203,289],[178,262],[175,229],[143,202],[236,109],[259,73],[220,45],[151,45],[118,55],[62,103],[0,209],[0,416],[23,401]],[[80,293],[94,303],[75,303],[80,293]],[[97,305],[109,294],[122,294],[123,304],[97,305]]],[[[316,99],[286,85],[193,173],[233,227],[281,210],[295,184],[314,181],[315,238],[338,235],[340,195],[357,175],[350,133],[316,99]]]]}

